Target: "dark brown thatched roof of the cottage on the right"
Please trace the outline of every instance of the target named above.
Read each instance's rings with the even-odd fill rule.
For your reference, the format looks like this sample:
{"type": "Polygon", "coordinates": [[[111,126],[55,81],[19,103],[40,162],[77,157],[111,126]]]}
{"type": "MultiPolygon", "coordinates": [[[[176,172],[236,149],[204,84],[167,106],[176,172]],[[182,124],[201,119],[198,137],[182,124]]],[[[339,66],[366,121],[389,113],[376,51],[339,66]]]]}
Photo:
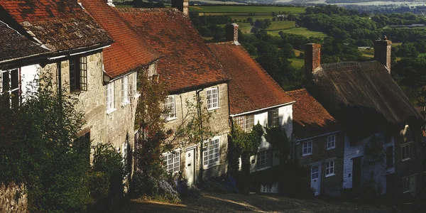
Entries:
{"type": "Polygon", "coordinates": [[[361,135],[383,125],[412,121],[417,125],[422,119],[386,67],[377,61],[321,65],[308,90],[347,130],[361,135]]]}

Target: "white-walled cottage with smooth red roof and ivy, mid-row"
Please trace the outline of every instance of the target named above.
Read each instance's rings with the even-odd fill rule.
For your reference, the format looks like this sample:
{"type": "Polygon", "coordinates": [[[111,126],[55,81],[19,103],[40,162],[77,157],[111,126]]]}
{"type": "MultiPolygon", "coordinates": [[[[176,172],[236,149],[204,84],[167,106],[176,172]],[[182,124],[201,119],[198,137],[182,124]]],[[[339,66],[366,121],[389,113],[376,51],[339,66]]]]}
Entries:
{"type": "MultiPolygon", "coordinates": [[[[238,42],[238,25],[227,24],[226,42],[209,43],[209,48],[231,78],[229,116],[244,131],[254,125],[280,126],[290,138],[293,133],[293,99],[263,70],[238,42]]],[[[251,156],[251,172],[279,164],[273,146],[263,137],[257,155],[251,156]]],[[[277,185],[263,191],[278,192],[277,185]]]]}

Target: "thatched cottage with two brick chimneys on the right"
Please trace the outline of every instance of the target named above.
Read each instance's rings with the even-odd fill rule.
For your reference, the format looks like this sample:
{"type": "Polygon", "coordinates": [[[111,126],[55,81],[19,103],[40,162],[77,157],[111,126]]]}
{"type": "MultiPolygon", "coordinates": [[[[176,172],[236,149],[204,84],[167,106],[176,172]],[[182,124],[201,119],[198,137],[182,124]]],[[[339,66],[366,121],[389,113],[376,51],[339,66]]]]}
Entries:
{"type": "Polygon", "coordinates": [[[377,40],[370,62],[320,63],[320,45],[305,45],[307,90],[345,131],[343,188],[363,185],[395,202],[422,195],[422,116],[391,72],[391,41],[377,40]]]}

